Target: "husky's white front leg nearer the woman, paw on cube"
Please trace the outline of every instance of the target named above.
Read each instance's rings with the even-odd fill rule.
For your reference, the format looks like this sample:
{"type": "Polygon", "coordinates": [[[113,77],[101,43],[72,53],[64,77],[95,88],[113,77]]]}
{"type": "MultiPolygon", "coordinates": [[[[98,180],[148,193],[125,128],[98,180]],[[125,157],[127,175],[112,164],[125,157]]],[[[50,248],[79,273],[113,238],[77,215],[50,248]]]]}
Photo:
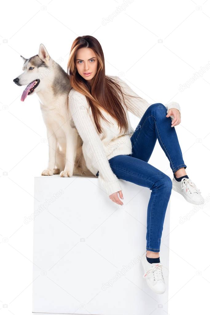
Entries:
{"type": "Polygon", "coordinates": [[[66,165],[64,171],[60,173],[60,177],[71,177],[74,171],[75,157],[77,151],[77,131],[74,128],[68,129],[66,132],[66,165]]]}

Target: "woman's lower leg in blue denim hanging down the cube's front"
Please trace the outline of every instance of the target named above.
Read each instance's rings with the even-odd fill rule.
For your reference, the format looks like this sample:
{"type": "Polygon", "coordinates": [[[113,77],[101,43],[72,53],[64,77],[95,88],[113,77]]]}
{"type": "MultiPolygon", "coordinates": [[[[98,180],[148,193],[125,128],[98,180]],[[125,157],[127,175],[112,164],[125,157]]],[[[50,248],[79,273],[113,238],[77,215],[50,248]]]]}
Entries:
{"type": "Polygon", "coordinates": [[[172,190],[170,177],[151,164],[129,155],[112,157],[109,164],[119,179],[152,190],[147,208],[146,250],[159,253],[163,222],[172,190]]]}

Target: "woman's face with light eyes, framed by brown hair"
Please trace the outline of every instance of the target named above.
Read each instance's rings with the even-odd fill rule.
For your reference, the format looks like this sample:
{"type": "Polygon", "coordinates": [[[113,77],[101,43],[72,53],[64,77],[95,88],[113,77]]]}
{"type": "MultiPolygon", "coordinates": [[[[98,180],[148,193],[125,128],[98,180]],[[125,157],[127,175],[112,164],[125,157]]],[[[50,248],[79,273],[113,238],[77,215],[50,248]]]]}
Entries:
{"type": "Polygon", "coordinates": [[[94,51],[86,47],[78,49],[75,63],[80,76],[91,82],[98,69],[98,60],[94,51]]]}

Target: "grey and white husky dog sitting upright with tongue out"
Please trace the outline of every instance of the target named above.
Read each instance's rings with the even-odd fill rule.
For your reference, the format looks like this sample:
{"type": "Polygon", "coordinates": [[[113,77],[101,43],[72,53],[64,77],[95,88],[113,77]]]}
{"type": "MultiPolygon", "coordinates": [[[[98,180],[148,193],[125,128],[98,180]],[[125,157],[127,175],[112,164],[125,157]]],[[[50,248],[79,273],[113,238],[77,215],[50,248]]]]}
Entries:
{"type": "Polygon", "coordinates": [[[27,84],[21,101],[27,95],[38,95],[47,128],[49,159],[47,168],[41,175],[93,175],[86,167],[82,152],[83,141],[69,111],[69,75],[49,56],[43,44],[40,44],[37,55],[29,59],[23,56],[21,58],[24,60],[24,72],[13,81],[19,86],[27,84]]]}

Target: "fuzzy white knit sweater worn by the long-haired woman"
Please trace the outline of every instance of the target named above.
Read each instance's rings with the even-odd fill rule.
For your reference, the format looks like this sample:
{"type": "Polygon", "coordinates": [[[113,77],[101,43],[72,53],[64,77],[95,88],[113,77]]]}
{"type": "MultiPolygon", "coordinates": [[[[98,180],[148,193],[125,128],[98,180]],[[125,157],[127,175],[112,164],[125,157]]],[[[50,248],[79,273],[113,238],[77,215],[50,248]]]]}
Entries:
{"type": "MultiPolygon", "coordinates": [[[[139,96],[121,78],[117,76],[108,77],[117,80],[117,83],[120,84],[126,94],[139,96]]],[[[99,134],[91,115],[91,107],[88,111],[89,105],[86,96],[77,92],[75,89],[71,89],[69,92],[69,110],[74,120],[75,127],[83,140],[82,150],[87,168],[90,169],[94,175],[99,171],[99,184],[106,189],[108,195],[122,190],[119,179],[113,173],[108,160],[119,154],[132,153],[130,137],[134,129],[131,127],[128,111],[141,119],[146,109],[151,105],[146,100],[124,96],[125,107],[120,94],[119,97],[126,112],[129,127],[128,132],[125,134],[120,133],[116,120],[107,112],[101,110],[102,115],[111,123],[108,124],[99,117],[100,125],[103,130],[102,134],[99,134]]],[[[167,113],[170,108],[176,108],[180,111],[180,106],[176,102],[170,102],[165,106],[167,113]]],[[[171,119],[173,118],[173,116],[170,117],[171,119]]]]}

